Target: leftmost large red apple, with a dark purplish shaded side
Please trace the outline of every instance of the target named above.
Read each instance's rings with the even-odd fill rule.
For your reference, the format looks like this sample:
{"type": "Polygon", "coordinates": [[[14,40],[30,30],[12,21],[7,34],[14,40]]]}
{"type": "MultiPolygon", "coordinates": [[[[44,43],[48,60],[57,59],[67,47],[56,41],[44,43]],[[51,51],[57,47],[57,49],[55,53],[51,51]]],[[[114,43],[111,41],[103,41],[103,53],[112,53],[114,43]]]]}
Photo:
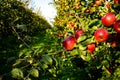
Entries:
{"type": "Polygon", "coordinates": [[[75,44],[76,44],[76,39],[73,36],[68,36],[63,41],[63,47],[66,50],[72,50],[75,44]]]}

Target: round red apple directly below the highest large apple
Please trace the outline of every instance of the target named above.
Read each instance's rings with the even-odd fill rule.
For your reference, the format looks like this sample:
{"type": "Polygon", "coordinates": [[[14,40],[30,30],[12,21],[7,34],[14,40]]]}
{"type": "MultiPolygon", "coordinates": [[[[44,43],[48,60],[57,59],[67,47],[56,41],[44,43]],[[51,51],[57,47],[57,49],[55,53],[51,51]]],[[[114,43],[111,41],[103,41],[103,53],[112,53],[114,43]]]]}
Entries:
{"type": "Polygon", "coordinates": [[[94,37],[98,42],[105,42],[108,39],[109,33],[106,29],[100,28],[95,31],[94,37]]]}

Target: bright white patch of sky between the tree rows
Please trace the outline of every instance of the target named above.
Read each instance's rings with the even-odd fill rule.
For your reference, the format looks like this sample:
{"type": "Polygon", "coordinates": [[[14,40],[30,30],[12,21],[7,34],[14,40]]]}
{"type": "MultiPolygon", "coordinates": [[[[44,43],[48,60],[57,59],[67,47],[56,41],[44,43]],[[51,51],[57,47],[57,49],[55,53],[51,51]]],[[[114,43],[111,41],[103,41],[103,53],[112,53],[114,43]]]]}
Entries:
{"type": "Polygon", "coordinates": [[[53,0],[31,0],[30,3],[30,7],[33,7],[35,11],[40,9],[42,16],[44,16],[51,25],[51,22],[54,21],[54,17],[56,16],[56,9],[50,4],[52,1],[53,0]]]}

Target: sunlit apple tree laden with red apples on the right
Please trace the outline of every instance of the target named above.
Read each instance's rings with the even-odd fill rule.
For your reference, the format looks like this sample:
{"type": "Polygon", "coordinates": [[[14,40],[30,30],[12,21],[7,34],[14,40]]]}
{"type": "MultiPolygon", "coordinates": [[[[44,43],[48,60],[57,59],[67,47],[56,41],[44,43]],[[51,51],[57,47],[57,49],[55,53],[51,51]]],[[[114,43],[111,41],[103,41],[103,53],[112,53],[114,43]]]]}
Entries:
{"type": "Polygon", "coordinates": [[[63,76],[70,80],[118,80],[119,0],[54,0],[54,4],[55,34],[60,38],[66,60],[62,63],[62,59],[60,66],[68,70],[63,71],[63,76]]]}

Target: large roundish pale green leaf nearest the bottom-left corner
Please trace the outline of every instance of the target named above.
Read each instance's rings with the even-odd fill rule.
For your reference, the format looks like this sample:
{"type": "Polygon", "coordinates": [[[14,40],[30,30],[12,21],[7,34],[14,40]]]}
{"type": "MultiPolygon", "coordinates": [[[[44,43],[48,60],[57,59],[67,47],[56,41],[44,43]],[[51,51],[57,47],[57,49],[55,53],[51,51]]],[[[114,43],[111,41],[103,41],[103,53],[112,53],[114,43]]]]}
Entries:
{"type": "Polygon", "coordinates": [[[14,68],[11,71],[11,74],[12,74],[12,77],[16,78],[16,79],[22,79],[24,77],[23,76],[23,71],[21,69],[18,69],[18,68],[14,68]]]}

